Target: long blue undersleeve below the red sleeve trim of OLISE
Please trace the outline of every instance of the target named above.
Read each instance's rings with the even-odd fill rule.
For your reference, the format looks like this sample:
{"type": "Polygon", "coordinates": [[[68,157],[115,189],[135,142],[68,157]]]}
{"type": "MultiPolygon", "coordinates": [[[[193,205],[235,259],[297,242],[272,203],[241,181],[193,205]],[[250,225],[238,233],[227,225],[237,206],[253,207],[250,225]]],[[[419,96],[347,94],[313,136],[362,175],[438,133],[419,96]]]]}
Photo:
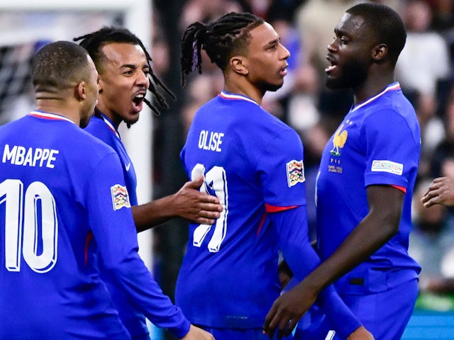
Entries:
{"type": "MultiPolygon", "coordinates": [[[[321,263],[319,255],[309,242],[306,206],[270,214],[279,233],[282,255],[298,281],[304,279],[321,263]]],[[[316,301],[336,331],[346,338],[361,323],[345,305],[333,285],[324,289],[316,301]]]]}

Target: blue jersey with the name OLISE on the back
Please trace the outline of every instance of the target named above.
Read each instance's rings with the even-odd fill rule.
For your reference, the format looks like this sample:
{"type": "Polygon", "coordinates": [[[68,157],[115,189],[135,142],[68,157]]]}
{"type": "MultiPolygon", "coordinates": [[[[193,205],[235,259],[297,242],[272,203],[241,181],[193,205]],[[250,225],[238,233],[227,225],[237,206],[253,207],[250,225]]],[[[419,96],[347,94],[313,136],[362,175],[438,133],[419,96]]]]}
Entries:
{"type": "Polygon", "coordinates": [[[252,99],[223,91],[197,111],[181,158],[223,212],[215,225],[189,226],[177,305],[194,324],[260,329],[281,291],[279,249],[300,279],[319,263],[301,140],[252,99]]]}

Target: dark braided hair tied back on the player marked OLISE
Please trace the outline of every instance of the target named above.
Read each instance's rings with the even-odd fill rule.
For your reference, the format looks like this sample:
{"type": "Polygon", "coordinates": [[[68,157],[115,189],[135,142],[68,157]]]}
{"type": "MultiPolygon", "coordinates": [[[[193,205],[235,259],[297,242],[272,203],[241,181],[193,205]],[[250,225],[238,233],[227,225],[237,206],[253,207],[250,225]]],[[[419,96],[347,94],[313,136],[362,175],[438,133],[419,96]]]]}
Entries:
{"type": "Polygon", "coordinates": [[[184,75],[197,70],[201,74],[201,50],[222,71],[233,53],[245,53],[250,39],[249,32],[265,21],[251,13],[227,13],[216,21],[205,24],[197,21],[184,31],[181,43],[182,85],[184,75]]]}

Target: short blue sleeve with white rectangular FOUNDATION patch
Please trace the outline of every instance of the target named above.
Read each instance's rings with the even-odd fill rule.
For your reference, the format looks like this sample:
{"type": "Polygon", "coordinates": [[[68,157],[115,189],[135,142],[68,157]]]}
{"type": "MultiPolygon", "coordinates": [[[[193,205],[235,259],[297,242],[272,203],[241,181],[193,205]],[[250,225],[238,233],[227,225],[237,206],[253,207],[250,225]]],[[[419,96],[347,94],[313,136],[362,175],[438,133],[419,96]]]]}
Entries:
{"type": "Polygon", "coordinates": [[[406,120],[392,110],[377,111],[362,127],[366,152],[365,185],[388,184],[406,188],[418,166],[419,140],[406,120]],[[386,122],[386,123],[384,123],[386,122]]]}

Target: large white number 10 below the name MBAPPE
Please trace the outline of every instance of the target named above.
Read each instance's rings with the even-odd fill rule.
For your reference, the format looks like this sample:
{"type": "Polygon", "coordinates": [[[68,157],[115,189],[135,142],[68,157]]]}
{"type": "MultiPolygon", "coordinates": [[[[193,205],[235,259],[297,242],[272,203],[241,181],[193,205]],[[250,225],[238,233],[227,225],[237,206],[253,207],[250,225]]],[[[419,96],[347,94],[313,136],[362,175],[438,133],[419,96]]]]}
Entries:
{"type": "Polygon", "coordinates": [[[0,208],[3,203],[6,269],[21,271],[22,254],[33,271],[47,273],[57,262],[58,221],[52,193],[44,183],[33,182],[24,196],[23,183],[7,179],[0,183],[0,208]],[[40,237],[43,251],[38,254],[40,237]]]}

